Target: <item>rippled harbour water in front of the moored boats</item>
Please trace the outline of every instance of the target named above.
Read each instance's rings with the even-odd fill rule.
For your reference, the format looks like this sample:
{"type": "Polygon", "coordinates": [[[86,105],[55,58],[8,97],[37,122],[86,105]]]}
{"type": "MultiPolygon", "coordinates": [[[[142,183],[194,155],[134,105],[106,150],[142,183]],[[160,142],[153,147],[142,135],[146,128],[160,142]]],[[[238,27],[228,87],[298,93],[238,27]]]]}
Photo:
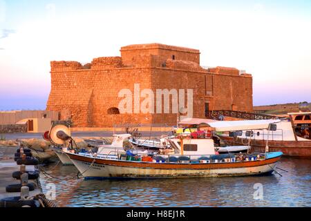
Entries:
{"type": "MultiPolygon", "coordinates": [[[[50,164],[58,206],[311,206],[311,160],[283,158],[269,176],[84,180],[75,166],[50,164]],[[261,194],[262,193],[262,194],[261,194]]],[[[53,188],[52,188],[53,189],[53,188]]]]}

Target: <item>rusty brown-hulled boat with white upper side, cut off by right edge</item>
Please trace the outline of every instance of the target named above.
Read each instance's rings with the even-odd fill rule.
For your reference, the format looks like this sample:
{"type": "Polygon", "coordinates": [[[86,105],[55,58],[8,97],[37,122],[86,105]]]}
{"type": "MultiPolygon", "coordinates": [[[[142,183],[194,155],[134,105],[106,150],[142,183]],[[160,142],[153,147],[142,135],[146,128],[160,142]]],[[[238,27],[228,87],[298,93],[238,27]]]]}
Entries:
{"type": "MultiPolygon", "coordinates": [[[[233,131],[219,137],[230,145],[249,143],[254,151],[264,151],[269,142],[270,151],[281,151],[287,157],[311,157],[311,112],[288,113],[270,128],[233,131]],[[249,142],[250,141],[250,142],[249,142]]],[[[245,124],[252,121],[244,121],[245,124]]],[[[231,123],[234,125],[234,122],[231,123]]]]}

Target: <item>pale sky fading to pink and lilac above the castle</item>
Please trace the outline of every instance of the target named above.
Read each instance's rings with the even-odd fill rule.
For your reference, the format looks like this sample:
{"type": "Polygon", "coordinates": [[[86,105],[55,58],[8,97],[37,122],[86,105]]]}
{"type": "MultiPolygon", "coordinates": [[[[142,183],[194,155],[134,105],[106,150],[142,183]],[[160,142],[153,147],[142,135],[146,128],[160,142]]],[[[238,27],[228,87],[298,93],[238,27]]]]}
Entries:
{"type": "Polygon", "coordinates": [[[311,102],[310,0],[0,0],[0,110],[45,109],[52,60],[155,42],[251,73],[254,105],[311,102]]]}

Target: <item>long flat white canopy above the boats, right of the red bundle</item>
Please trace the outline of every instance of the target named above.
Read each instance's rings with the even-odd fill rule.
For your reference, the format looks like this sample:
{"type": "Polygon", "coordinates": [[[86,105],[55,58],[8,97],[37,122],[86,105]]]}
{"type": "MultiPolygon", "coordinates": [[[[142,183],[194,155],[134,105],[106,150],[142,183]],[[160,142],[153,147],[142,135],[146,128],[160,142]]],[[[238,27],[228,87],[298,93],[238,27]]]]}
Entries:
{"type": "Polygon", "coordinates": [[[256,119],[256,120],[238,120],[238,121],[219,121],[211,122],[209,126],[216,132],[225,131],[247,131],[261,130],[269,128],[270,124],[281,122],[280,119],[256,119]]]}

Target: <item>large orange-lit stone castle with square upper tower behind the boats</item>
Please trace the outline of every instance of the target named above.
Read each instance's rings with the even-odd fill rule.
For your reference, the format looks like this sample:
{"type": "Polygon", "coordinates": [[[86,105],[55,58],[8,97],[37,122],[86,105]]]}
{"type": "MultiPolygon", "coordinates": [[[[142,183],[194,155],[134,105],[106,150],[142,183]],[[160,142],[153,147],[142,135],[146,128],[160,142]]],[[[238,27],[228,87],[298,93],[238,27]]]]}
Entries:
{"type": "MultiPolygon", "coordinates": [[[[51,61],[51,90],[47,110],[59,111],[74,126],[104,127],[114,124],[176,124],[173,96],[170,112],[134,110],[122,113],[121,90],[193,90],[193,117],[206,111],[252,111],[252,75],[236,68],[203,68],[200,51],[164,44],[124,46],[121,57],[99,57],[82,66],[77,61],[51,61]]],[[[133,106],[144,97],[130,99],[133,106]]],[[[187,108],[187,95],[185,107],[187,108]]],[[[163,102],[162,102],[163,104],[163,102]]],[[[150,105],[150,104],[149,104],[150,105]]],[[[138,104],[139,106],[139,104],[138,104]]],[[[163,106],[163,105],[162,105],[163,106]]],[[[162,107],[163,108],[163,107],[162,107]]],[[[133,108],[134,109],[134,108],[133,108]]],[[[180,110],[178,110],[180,111],[180,110]]]]}

